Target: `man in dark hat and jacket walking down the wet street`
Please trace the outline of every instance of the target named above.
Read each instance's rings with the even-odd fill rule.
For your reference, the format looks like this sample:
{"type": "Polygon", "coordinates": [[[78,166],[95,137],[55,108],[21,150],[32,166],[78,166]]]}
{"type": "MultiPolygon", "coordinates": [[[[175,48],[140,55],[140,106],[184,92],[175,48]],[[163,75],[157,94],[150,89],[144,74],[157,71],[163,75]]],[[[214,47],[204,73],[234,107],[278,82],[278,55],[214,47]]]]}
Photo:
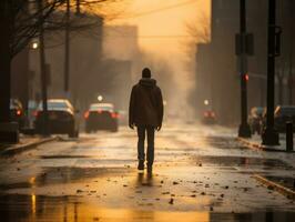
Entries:
{"type": "Polygon", "coordinates": [[[144,140],[148,134],[148,172],[152,172],[154,162],[154,131],[160,131],[163,121],[163,99],[156,81],[151,78],[151,70],[142,70],[142,79],[132,88],[129,107],[129,127],[138,128],[139,170],[144,170],[144,140]]]}

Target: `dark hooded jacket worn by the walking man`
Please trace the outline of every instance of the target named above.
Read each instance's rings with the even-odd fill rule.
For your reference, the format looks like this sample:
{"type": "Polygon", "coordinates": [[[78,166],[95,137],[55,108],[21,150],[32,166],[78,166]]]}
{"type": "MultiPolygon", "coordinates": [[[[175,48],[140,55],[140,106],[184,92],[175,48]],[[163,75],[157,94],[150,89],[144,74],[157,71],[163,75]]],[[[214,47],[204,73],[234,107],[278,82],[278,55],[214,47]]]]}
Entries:
{"type": "Polygon", "coordinates": [[[129,123],[160,127],[163,121],[163,99],[154,79],[142,78],[132,88],[129,107],[129,123]]]}

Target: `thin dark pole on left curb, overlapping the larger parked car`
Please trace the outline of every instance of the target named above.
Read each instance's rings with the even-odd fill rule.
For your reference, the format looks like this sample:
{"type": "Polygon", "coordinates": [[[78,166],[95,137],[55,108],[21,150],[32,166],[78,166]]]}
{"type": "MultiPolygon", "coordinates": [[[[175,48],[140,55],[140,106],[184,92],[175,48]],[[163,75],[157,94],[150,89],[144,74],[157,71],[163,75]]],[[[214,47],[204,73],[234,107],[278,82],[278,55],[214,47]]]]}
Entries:
{"type": "MultiPolygon", "coordinates": [[[[38,7],[40,11],[40,21],[42,21],[42,10],[43,10],[43,0],[38,1],[38,7]]],[[[45,51],[44,51],[44,28],[43,22],[40,24],[39,30],[39,44],[40,44],[40,73],[41,73],[41,94],[42,94],[42,118],[43,118],[43,129],[42,134],[48,135],[49,134],[49,128],[48,128],[48,94],[47,94],[47,70],[45,70],[45,51]]]]}

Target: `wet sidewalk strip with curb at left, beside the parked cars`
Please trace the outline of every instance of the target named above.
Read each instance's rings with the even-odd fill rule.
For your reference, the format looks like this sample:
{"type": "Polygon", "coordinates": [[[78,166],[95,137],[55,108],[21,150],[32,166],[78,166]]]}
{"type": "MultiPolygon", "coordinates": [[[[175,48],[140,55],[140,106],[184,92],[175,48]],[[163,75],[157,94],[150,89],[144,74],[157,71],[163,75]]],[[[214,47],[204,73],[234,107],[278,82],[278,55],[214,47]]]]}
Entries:
{"type": "Polygon", "coordinates": [[[17,144],[1,144],[0,143],[0,155],[13,155],[19,152],[23,152],[26,150],[30,150],[35,148],[37,145],[51,142],[57,140],[57,137],[49,137],[43,138],[40,135],[28,137],[28,135],[20,135],[20,142],[17,144]]]}

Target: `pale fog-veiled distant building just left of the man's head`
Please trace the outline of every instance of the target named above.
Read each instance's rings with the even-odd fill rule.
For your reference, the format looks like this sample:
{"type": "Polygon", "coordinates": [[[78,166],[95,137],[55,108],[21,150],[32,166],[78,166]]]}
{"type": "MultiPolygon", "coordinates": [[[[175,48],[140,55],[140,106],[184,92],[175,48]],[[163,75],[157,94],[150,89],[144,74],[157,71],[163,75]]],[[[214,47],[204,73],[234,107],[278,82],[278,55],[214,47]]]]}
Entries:
{"type": "Polygon", "coordinates": [[[128,110],[132,83],[141,59],[136,26],[104,26],[101,73],[105,75],[101,89],[115,107],[128,110]]]}

